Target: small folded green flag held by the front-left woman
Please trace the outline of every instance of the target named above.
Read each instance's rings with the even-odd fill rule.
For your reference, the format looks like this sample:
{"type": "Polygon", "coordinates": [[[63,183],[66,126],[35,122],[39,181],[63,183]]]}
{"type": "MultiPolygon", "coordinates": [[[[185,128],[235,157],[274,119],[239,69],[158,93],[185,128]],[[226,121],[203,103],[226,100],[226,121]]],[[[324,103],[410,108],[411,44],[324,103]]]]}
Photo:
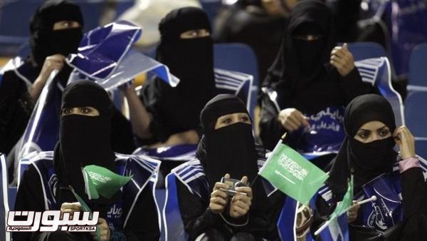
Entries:
{"type": "Polygon", "coordinates": [[[100,196],[111,198],[132,178],[117,175],[107,168],[97,165],[87,165],[82,172],[85,180],[85,193],[89,200],[100,198],[100,196]]]}

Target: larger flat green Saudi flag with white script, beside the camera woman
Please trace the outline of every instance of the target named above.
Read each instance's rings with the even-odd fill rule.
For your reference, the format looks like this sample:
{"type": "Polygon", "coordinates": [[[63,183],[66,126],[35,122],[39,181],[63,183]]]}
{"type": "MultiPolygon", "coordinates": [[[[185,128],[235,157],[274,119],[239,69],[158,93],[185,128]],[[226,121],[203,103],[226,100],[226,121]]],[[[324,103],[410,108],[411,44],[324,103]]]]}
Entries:
{"type": "Polygon", "coordinates": [[[259,175],[291,198],[308,205],[329,176],[300,153],[279,141],[259,175]]]}

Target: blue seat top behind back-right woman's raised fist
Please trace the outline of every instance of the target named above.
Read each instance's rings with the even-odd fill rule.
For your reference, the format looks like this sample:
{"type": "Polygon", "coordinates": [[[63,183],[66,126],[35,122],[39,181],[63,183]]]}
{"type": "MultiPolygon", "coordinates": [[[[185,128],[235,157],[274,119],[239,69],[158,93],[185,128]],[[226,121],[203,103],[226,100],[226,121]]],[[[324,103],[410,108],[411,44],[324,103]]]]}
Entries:
{"type": "Polygon", "coordinates": [[[349,51],[352,52],[354,61],[386,56],[386,51],[384,48],[378,43],[373,42],[349,43],[349,51]]]}

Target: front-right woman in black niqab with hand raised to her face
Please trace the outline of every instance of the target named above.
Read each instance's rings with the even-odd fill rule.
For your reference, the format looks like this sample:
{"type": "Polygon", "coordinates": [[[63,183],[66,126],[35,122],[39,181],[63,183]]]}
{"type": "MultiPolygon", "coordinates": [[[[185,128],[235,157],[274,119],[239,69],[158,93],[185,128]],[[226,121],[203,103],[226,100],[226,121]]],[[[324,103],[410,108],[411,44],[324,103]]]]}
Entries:
{"type": "Polygon", "coordinates": [[[346,108],[344,127],[347,136],[327,180],[332,207],[342,200],[351,174],[355,199],[369,195],[369,188],[378,193],[371,204],[355,204],[349,210],[350,240],[426,240],[426,180],[415,155],[414,138],[406,126],[396,128],[390,103],[374,94],[354,98],[346,108]],[[396,144],[399,157],[394,150],[396,144]],[[394,169],[395,164],[399,164],[399,171],[394,169]],[[375,183],[379,176],[383,179],[375,183]],[[386,183],[379,184],[381,181],[386,183]]]}

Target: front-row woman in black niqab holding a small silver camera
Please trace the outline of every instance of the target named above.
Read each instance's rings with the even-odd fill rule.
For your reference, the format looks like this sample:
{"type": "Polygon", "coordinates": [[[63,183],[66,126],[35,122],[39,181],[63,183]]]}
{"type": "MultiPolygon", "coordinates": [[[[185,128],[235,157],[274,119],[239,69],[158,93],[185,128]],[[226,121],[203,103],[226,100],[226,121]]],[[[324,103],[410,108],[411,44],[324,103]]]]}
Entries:
{"type": "MultiPolygon", "coordinates": [[[[221,94],[211,99],[201,111],[203,137],[196,153],[204,169],[211,199],[200,200],[178,185],[179,207],[190,240],[262,240],[277,236],[275,222],[268,220],[267,196],[258,173],[258,153],[252,134],[251,119],[243,102],[233,95],[221,94]],[[238,113],[238,120],[223,119],[226,125],[217,127],[221,118],[238,113]],[[245,115],[246,114],[246,115],[245,115]],[[216,184],[226,174],[241,180],[248,177],[253,198],[246,215],[231,217],[231,200],[223,212],[211,209],[216,184]]],[[[222,120],[222,119],[221,119],[222,120]]],[[[178,182],[179,183],[179,182],[178,182]]]]}

